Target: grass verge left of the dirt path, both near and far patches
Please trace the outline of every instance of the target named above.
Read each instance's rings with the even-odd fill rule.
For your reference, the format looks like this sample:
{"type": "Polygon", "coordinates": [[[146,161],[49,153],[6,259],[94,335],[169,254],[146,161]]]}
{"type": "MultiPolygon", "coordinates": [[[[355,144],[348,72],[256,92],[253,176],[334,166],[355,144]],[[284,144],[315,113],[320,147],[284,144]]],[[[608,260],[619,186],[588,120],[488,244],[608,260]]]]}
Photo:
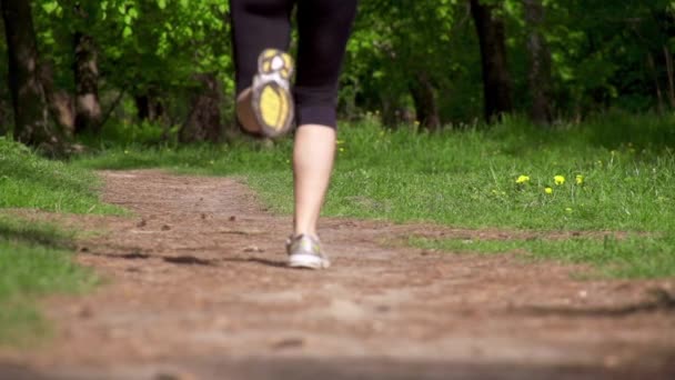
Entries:
{"type": "Polygon", "coordinates": [[[2,209],[120,213],[100,202],[97,186],[90,171],[42,159],[0,138],[0,344],[22,346],[48,334],[38,298],[84,291],[98,281],[72,262],[73,233],[2,209]]]}

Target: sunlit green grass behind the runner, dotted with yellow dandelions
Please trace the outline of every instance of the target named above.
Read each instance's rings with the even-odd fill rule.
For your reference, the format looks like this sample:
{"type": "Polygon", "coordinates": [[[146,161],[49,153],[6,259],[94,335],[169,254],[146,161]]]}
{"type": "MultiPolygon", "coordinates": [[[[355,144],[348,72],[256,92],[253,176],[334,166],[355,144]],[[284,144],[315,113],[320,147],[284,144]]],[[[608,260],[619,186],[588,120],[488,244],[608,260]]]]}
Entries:
{"type": "MultiPolygon", "coordinates": [[[[439,133],[385,130],[375,120],[346,124],[324,214],[466,228],[673,233],[674,124],[675,114],[623,113],[552,130],[518,119],[439,133]],[[516,183],[521,176],[530,180],[516,183]],[[556,183],[556,176],[564,183],[556,183]]],[[[130,144],[78,164],[242,176],[268,206],[289,213],[291,149],[290,139],[273,149],[243,142],[180,149],[130,144]]],[[[675,261],[669,241],[659,247],[665,261],[675,261]]],[[[675,276],[673,266],[665,268],[639,273],[675,276]]]]}

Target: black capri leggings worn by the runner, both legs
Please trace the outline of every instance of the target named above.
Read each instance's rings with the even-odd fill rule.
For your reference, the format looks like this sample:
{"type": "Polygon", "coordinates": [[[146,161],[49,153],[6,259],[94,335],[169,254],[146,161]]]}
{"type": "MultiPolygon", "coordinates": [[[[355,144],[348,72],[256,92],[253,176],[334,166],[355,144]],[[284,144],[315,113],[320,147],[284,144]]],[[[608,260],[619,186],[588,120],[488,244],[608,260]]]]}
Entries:
{"type": "Polygon", "coordinates": [[[298,6],[298,126],[335,128],[338,81],[357,0],[230,0],[236,93],[251,87],[258,56],[288,50],[291,12],[298,6]]]}

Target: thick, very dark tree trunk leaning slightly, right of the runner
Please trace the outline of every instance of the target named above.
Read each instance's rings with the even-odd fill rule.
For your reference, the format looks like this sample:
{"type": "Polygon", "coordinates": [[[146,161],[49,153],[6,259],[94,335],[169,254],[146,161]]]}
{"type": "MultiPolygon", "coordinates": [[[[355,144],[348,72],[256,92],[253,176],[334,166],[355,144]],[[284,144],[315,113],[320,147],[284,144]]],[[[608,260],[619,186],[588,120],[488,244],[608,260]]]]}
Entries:
{"type": "Polygon", "coordinates": [[[495,6],[478,0],[470,0],[470,4],[481,44],[485,119],[490,122],[513,110],[504,21],[494,14],[495,6]]]}

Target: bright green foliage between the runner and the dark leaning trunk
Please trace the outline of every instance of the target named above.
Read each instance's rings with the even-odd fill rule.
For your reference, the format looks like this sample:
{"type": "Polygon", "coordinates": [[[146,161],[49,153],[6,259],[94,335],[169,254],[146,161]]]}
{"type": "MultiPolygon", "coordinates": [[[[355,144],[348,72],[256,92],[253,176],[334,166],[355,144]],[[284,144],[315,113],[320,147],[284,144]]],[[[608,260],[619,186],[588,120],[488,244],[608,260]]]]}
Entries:
{"type": "MultiPolygon", "coordinates": [[[[347,47],[343,98],[356,108],[384,113],[411,107],[410,88],[424,73],[439,89],[461,73],[461,61],[450,54],[457,1],[367,1],[360,8],[347,47]]],[[[476,51],[477,57],[477,51],[476,51]]],[[[456,99],[453,99],[456,100],[456,99]]]]}

